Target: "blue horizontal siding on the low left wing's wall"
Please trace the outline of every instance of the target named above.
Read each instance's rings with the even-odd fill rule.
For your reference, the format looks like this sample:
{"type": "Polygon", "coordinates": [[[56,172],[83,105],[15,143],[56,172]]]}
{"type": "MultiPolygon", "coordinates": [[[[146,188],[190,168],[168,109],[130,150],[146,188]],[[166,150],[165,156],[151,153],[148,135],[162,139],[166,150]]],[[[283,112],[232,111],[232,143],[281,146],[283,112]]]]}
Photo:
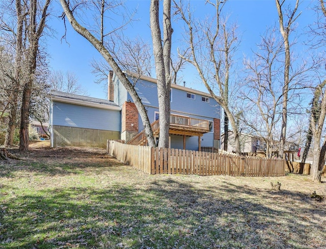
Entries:
{"type": "Polygon", "coordinates": [[[121,131],[119,110],[108,110],[90,106],[53,101],[53,125],[87,129],[121,131]]]}

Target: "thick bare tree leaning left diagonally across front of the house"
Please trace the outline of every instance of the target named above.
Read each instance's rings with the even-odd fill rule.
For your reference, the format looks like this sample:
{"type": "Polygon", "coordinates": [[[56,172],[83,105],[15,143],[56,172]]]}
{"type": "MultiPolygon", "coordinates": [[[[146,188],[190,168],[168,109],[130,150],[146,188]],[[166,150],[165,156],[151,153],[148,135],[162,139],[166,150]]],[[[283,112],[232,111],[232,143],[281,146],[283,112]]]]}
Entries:
{"type": "MultiPolygon", "coordinates": [[[[147,141],[149,143],[149,146],[155,147],[155,141],[154,141],[154,136],[152,132],[152,128],[147,116],[146,109],[142,103],[142,100],[138,96],[137,92],[134,89],[133,84],[128,80],[127,76],[125,73],[121,70],[119,65],[117,64],[116,60],[112,56],[111,52],[107,47],[110,44],[106,44],[104,42],[105,38],[112,34],[115,30],[121,29],[123,26],[125,26],[129,21],[130,18],[127,19],[127,21],[124,21],[123,23],[120,23],[120,25],[116,28],[114,28],[113,31],[106,32],[104,29],[104,21],[105,21],[105,15],[107,12],[111,12],[111,14],[115,13],[115,7],[121,6],[122,3],[120,2],[108,2],[105,0],[102,1],[91,1],[88,3],[78,3],[76,2],[74,5],[73,1],[66,1],[66,0],[60,0],[60,3],[63,7],[64,10],[64,15],[66,16],[67,19],[69,20],[70,24],[72,25],[73,29],[82,35],[84,38],[86,38],[101,54],[101,56],[104,58],[104,60],[110,65],[110,67],[113,69],[123,86],[126,88],[126,90],[129,92],[133,102],[135,103],[140,116],[142,118],[144,127],[145,127],[145,133],[147,137],[147,141]],[[88,6],[89,5],[89,6],[88,6]],[[88,7],[91,7],[92,10],[96,10],[94,12],[95,14],[95,20],[100,20],[99,23],[97,21],[95,22],[94,25],[92,25],[93,29],[95,27],[98,27],[97,30],[91,30],[91,29],[86,29],[85,26],[83,26],[83,19],[80,18],[79,21],[77,21],[76,17],[78,17],[77,11],[82,9],[85,11],[91,11],[88,7]],[[82,24],[80,24],[82,23],[82,24]],[[93,33],[92,33],[93,32],[93,33]]],[[[90,14],[90,12],[88,13],[90,14]]],[[[86,24],[87,25],[87,24],[86,24]]]]}

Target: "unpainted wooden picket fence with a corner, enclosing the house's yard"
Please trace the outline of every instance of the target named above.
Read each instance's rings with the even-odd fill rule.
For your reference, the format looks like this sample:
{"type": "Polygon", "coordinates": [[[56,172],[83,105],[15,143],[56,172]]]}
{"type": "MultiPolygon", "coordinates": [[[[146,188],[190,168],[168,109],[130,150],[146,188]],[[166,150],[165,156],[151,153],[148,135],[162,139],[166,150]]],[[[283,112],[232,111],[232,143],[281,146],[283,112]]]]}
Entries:
{"type": "Polygon", "coordinates": [[[148,174],[284,176],[286,161],[108,141],[107,153],[148,174]]]}

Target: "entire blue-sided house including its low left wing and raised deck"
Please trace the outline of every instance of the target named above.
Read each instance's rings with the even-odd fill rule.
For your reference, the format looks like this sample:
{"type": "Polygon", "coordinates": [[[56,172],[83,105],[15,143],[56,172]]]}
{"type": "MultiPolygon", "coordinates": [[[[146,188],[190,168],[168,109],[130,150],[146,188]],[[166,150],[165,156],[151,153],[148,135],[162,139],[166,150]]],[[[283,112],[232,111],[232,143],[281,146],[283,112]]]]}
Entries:
{"type": "MultiPolygon", "coordinates": [[[[133,80],[133,76],[129,74],[130,80],[133,80]]],[[[151,124],[157,127],[159,112],[156,79],[138,77],[135,90],[147,109],[151,124]]],[[[173,84],[170,102],[171,148],[220,148],[221,106],[208,93],[173,84]]],[[[130,94],[113,72],[108,80],[108,100],[52,92],[50,112],[53,147],[91,146],[91,134],[82,135],[83,139],[80,136],[80,132],[83,134],[90,130],[98,132],[93,134],[96,136],[103,132],[100,135],[100,143],[94,143],[94,146],[100,144],[99,147],[104,147],[106,139],[124,140],[126,143],[137,145],[146,145],[147,142],[143,139],[137,140],[144,130],[141,117],[130,94]]],[[[159,130],[153,129],[153,133],[158,140],[159,130]]]]}

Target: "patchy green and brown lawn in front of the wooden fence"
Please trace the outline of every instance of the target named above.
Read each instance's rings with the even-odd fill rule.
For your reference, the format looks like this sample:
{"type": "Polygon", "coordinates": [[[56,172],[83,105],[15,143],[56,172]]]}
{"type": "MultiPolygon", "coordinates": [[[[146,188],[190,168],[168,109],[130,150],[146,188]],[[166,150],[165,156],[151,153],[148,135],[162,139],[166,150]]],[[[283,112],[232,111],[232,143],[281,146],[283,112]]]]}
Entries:
{"type": "Polygon", "coordinates": [[[326,248],[326,183],[146,175],[99,149],[0,161],[0,248],[326,248]],[[281,182],[281,191],[270,182],[281,182]]]}

